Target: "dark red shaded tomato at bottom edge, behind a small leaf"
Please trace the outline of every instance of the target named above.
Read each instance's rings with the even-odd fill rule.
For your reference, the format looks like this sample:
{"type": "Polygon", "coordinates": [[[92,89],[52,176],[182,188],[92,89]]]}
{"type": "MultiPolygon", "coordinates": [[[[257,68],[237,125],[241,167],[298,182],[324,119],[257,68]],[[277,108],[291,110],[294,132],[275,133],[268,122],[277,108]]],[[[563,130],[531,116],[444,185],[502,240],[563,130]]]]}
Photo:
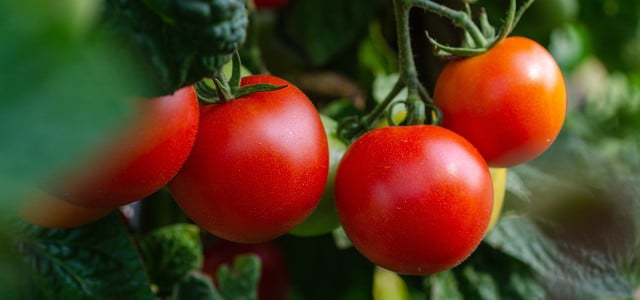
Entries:
{"type": "Polygon", "coordinates": [[[273,242],[238,244],[217,240],[205,249],[202,271],[214,278],[215,281],[215,274],[221,265],[230,265],[236,256],[248,254],[255,254],[260,258],[258,299],[287,299],[289,293],[289,266],[282,251],[273,242]]]}

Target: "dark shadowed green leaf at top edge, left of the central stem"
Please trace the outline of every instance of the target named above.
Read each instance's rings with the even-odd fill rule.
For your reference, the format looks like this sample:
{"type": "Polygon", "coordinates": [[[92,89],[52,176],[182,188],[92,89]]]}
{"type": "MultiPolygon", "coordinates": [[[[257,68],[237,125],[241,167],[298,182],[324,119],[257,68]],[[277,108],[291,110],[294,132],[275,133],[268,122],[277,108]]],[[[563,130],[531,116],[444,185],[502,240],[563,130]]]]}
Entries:
{"type": "Polygon", "coordinates": [[[381,0],[293,1],[283,28],[312,65],[322,65],[364,36],[381,3],[381,0]]]}

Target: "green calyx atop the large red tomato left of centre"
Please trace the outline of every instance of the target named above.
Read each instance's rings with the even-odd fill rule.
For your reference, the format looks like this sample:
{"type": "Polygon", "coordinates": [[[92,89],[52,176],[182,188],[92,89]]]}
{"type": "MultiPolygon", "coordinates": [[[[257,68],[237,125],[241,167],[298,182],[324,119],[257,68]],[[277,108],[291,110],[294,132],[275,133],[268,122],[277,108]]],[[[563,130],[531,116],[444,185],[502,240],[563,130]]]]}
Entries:
{"type": "Polygon", "coordinates": [[[240,86],[241,70],[240,56],[236,53],[232,60],[231,78],[227,79],[222,71],[217,72],[211,78],[205,78],[197,82],[194,87],[198,94],[198,100],[202,104],[216,104],[229,102],[253,93],[272,92],[283,89],[287,85],[275,85],[268,83],[240,86]]]}

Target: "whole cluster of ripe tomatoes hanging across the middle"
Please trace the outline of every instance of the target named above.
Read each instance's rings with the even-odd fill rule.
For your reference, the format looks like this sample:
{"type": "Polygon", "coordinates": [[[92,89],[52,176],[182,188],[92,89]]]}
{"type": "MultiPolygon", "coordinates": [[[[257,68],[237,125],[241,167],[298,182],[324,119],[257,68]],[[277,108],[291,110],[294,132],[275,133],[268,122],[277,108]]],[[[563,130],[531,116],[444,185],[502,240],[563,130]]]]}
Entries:
{"type": "Polygon", "coordinates": [[[65,217],[47,218],[48,208],[23,217],[77,226],[168,185],[191,220],[227,241],[342,225],[373,263],[432,274],[474,251],[502,205],[504,168],[545,151],[566,109],[555,61],[518,37],[444,68],[434,94],[443,126],[378,127],[348,146],[335,121],[291,83],[270,75],[241,81],[263,84],[282,88],[206,105],[193,87],[141,100],[135,124],[106,153],[61,176],[55,196],[38,194],[65,217]]]}

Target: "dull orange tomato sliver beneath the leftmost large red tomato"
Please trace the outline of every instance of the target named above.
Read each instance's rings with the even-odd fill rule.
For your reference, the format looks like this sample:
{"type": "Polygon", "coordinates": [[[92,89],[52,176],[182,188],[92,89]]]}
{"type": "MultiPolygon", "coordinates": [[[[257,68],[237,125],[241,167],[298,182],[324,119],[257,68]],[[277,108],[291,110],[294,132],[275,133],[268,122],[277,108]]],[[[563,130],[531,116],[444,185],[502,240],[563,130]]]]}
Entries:
{"type": "Polygon", "coordinates": [[[73,228],[106,216],[112,208],[84,207],[41,190],[20,203],[18,214],[29,223],[47,228],[73,228]]]}

